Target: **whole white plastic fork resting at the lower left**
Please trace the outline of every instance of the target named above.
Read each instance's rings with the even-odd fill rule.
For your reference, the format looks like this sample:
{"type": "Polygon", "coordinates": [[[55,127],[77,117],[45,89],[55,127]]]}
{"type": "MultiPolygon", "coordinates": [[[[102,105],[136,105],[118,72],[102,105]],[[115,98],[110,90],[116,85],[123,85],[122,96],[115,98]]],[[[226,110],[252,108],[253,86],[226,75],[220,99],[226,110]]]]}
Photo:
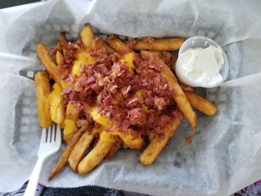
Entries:
{"type": "Polygon", "coordinates": [[[34,196],[38,185],[39,176],[44,161],[52,154],[58,152],[61,147],[61,128],[58,124],[53,124],[47,129],[43,129],[40,147],[37,152],[38,160],[34,166],[24,196],[34,196]]]}

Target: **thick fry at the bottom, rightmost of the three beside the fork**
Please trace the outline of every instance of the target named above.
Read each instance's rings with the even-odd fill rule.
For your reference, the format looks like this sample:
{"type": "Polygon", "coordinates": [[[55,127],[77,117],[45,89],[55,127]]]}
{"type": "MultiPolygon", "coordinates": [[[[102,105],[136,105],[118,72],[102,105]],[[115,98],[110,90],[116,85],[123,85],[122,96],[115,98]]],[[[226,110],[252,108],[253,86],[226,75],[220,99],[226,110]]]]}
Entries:
{"type": "Polygon", "coordinates": [[[93,170],[106,156],[113,144],[113,142],[103,142],[99,139],[97,145],[79,163],[78,173],[83,174],[93,170]]]}

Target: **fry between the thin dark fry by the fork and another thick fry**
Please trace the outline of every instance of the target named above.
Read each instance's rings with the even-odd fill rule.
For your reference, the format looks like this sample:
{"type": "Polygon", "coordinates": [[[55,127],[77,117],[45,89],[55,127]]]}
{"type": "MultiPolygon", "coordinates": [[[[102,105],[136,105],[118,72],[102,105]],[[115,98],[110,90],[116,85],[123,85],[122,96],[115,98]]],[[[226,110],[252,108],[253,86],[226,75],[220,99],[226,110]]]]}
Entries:
{"type": "Polygon", "coordinates": [[[84,153],[90,147],[91,143],[95,138],[95,134],[90,131],[85,131],[73,150],[68,159],[68,164],[73,172],[77,172],[78,165],[84,156],[84,153]]]}

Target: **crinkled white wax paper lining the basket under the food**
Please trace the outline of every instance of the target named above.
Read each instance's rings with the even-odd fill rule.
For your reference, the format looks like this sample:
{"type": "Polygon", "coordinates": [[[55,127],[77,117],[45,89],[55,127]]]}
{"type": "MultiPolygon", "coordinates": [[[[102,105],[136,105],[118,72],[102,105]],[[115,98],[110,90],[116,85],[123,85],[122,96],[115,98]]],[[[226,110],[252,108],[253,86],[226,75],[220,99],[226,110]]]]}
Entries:
{"type": "MultiPolygon", "coordinates": [[[[95,36],[191,37],[217,41],[230,61],[227,80],[261,72],[261,1],[47,0],[0,10],[0,192],[19,189],[37,160],[38,126],[33,73],[44,67],[36,45],[48,48],[65,31],[79,38],[85,24],[95,36]]],[[[44,164],[48,187],[96,185],[156,196],[230,195],[261,178],[261,78],[246,85],[196,88],[218,112],[200,112],[195,132],[187,120],[153,165],[140,151],[121,149],[84,175],[65,167],[47,182],[59,153],[44,164]],[[192,136],[192,143],[185,142],[192,136]]]]}

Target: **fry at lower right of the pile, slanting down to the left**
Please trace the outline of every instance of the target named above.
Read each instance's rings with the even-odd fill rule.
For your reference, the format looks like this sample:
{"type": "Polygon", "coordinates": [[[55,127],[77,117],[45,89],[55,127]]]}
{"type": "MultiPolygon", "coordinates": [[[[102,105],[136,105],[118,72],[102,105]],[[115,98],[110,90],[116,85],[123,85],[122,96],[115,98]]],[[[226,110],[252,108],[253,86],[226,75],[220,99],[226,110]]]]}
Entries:
{"type": "Polygon", "coordinates": [[[145,148],[140,156],[140,161],[143,165],[151,165],[160,154],[162,149],[166,146],[168,140],[173,136],[173,132],[177,129],[179,124],[181,123],[183,118],[182,113],[178,118],[174,119],[171,123],[168,123],[164,126],[163,131],[165,133],[164,139],[154,137],[150,142],[149,145],[145,148]]]}

